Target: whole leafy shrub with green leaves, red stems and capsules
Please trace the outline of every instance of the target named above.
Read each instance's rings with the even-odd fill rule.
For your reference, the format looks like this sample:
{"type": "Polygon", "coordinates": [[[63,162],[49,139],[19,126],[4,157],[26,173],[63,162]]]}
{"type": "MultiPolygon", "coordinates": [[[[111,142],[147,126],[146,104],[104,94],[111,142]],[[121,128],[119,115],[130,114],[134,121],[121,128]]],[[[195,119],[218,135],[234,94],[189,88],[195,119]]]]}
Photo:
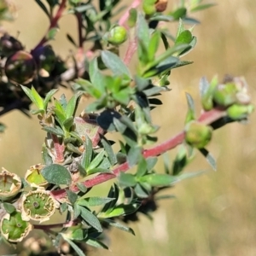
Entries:
{"type": "MultiPolygon", "coordinates": [[[[34,229],[50,235],[58,253],[63,254],[64,242],[73,255],[85,255],[86,246],[108,248],[103,242],[104,230],[115,227],[134,235],[126,224],[137,221],[140,213],[150,218],[160,191],[202,173],[183,172],[195,150],[216,169],[206,148],[212,133],[230,122],[245,121],[253,111],[243,78],[229,77],[223,82],[217,77],[211,82],[202,78],[201,115],[196,118],[193,99],[187,94],[185,125],[164,143],[155,145],[154,133],[159,127],[151,119],[151,111],[162,104],[158,96],[170,93],[172,69],[192,63],[183,56],[195,48],[190,24],[199,21],[189,15],[212,6],[202,2],[180,1],[168,12],[166,0],[134,1],[115,24],[114,16],[124,12],[118,0],[99,1],[98,7],[93,1],[36,0],[50,23],[38,45],[27,52],[18,39],[3,34],[0,114],[17,108],[37,115],[46,134],[43,164],[31,166],[24,178],[5,169],[0,174],[4,241],[15,244],[34,229]],[[48,44],[65,12],[76,17],[79,27],[78,42],[67,34],[79,53],[77,58],[73,56],[73,67],[67,67],[48,44]],[[177,32],[163,26],[168,22],[177,22],[177,32]],[[84,51],[88,41],[92,47],[84,51]],[[123,59],[119,55],[121,44],[125,45],[123,59]],[[137,61],[136,71],[129,66],[131,58],[137,61]],[[55,98],[59,85],[73,90],[69,100],[65,95],[55,98]],[[94,101],[77,116],[84,97],[94,101]],[[36,109],[30,110],[31,102],[36,109]],[[106,135],[110,131],[122,139],[109,141],[106,135]],[[113,144],[119,145],[117,152],[113,144]],[[148,145],[151,148],[145,149],[148,145]],[[157,160],[178,145],[175,160],[171,164],[165,160],[166,172],[157,172],[157,160]],[[131,167],[135,172],[127,172],[131,167]],[[87,194],[113,178],[108,195],[87,194]],[[56,212],[66,216],[64,223],[41,224],[56,212]]],[[[0,3],[3,20],[9,17],[10,7],[8,2],[0,3]]],[[[4,125],[0,128],[3,131],[4,125]]]]}

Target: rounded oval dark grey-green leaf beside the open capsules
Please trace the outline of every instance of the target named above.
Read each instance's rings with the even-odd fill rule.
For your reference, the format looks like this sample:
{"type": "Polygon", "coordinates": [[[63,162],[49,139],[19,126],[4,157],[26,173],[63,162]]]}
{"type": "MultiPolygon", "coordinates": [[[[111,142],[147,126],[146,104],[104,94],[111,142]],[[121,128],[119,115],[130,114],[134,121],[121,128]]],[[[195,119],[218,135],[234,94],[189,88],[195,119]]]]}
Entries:
{"type": "Polygon", "coordinates": [[[70,175],[70,172],[68,172],[67,168],[57,164],[45,166],[42,169],[41,174],[49,183],[55,185],[69,185],[72,182],[72,177],[70,175]]]}

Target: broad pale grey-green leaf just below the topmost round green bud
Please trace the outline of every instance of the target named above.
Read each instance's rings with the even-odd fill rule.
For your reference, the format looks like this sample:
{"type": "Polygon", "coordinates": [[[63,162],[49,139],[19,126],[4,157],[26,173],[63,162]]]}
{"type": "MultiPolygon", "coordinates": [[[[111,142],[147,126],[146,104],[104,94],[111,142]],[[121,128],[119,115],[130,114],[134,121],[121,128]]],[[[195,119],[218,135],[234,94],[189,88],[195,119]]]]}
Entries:
{"type": "Polygon", "coordinates": [[[101,55],[105,66],[108,67],[114,75],[131,78],[131,73],[128,67],[125,66],[125,63],[118,55],[115,55],[108,50],[102,50],[101,55]]]}

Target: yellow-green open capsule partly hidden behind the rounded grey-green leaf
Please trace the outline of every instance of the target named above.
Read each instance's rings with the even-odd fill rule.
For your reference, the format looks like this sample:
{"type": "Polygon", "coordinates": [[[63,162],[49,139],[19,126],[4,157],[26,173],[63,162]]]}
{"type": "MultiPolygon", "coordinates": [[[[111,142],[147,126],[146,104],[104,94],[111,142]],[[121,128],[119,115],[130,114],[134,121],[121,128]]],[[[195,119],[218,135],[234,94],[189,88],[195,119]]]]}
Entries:
{"type": "Polygon", "coordinates": [[[30,184],[32,188],[46,188],[48,186],[48,182],[45,180],[43,175],[41,174],[41,170],[44,168],[43,165],[38,164],[35,166],[31,166],[29,170],[26,171],[25,180],[30,184]]]}

